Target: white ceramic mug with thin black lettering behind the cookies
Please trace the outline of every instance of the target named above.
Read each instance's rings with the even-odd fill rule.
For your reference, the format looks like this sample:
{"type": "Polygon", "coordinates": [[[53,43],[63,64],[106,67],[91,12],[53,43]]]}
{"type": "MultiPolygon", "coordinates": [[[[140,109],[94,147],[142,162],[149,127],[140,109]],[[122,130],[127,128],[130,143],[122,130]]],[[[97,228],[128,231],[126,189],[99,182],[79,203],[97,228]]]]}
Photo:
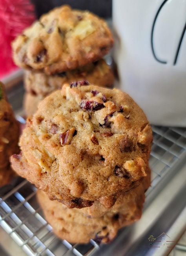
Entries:
{"type": "Polygon", "coordinates": [[[186,0],[113,0],[119,86],[153,124],[186,126],[186,0]]]}

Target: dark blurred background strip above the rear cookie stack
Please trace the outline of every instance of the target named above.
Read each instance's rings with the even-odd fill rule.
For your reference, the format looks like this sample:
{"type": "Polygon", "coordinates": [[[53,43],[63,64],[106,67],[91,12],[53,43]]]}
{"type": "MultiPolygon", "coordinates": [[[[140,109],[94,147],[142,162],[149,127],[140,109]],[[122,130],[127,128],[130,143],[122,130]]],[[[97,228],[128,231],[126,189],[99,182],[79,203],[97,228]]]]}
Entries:
{"type": "Polygon", "coordinates": [[[89,10],[100,17],[111,17],[111,0],[31,0],[35,5],[36,15],[39,18],[43,13],[63,4],[69,4],[72,8],[89,10]]]}

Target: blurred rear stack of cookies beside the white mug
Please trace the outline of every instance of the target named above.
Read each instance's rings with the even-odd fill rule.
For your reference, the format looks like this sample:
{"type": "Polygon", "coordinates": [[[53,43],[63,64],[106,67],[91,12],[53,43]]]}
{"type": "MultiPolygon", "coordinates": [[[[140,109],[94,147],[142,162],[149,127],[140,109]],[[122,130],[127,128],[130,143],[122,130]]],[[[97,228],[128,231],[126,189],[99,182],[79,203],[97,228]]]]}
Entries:
{"type": "Polygon", "coordinates": [[[88,11],[58,7],[43,15],[13,42],[14,60],[29,69],[24,107],[35,113],[38,103],[63,83],[88,80],[113,85],[113,72],[102,57],[113,45],[102,19],[88,11]]]}

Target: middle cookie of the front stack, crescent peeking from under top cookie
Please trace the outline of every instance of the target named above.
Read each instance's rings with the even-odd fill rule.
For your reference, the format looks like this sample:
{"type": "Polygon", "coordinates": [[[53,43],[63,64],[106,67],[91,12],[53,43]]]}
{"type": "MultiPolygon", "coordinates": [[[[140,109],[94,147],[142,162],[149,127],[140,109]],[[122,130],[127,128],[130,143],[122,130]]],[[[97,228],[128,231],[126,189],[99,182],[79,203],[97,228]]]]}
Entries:
{"type": "MultiPolygon", "coordinates": [[[[106,208],[104,205],[100,204],[99,201],[94,201],[93,205],[90,207],[85,207],[77,209],[84,215],[88,217],[102,217],[106,213],[115,213],[126,211],[126,213],[135,204],[136,198],[139,195],[143,195],[144,192],[150,186],[150,168],[148,169],[147,176],[143,178],[141,184],[127,192],[123,192],[116,200],[115,204],[111,208],[106,208]]],[[[76,209],[76,208],[75,208],[76,209]]]]}

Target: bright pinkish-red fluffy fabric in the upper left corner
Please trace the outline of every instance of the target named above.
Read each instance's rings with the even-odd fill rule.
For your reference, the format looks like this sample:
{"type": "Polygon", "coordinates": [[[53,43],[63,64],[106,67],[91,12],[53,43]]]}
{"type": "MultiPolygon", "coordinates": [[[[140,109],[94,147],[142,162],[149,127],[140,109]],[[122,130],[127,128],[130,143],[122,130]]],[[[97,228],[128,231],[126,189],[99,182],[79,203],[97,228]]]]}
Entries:
{"type": "Polygon", "coordinates": [[[17,69],[12,60],[11,41],[35,20],[29,0],[0,0],[0,78],[17,69]]]}

